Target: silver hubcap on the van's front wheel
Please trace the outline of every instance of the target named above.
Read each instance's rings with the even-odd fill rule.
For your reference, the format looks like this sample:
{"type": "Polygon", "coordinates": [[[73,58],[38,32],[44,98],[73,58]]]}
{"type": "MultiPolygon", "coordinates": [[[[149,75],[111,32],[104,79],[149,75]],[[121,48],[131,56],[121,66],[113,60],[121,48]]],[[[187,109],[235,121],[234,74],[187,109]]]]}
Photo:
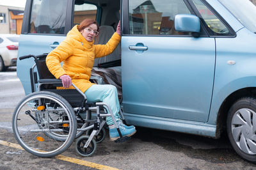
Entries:
{"type": "Polygon", "coordinates": [[[232,136],[237,146],[247,154],[256,154],[256,112],[239,109],[231,122],[232,136]]]}

